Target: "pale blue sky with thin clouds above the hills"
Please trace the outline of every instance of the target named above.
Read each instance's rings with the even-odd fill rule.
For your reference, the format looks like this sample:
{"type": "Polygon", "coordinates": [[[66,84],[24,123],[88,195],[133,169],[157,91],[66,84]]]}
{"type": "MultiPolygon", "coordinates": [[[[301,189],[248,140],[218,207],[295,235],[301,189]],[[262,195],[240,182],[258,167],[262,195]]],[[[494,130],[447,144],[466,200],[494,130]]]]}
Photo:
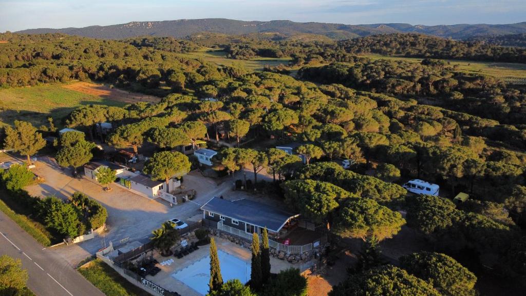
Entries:
{"type": "Polygon", "coordinates": [[[0,32],[183,18],[351,25],[510,24],[526,21],[526,0],[0,0],[0,32]]]}

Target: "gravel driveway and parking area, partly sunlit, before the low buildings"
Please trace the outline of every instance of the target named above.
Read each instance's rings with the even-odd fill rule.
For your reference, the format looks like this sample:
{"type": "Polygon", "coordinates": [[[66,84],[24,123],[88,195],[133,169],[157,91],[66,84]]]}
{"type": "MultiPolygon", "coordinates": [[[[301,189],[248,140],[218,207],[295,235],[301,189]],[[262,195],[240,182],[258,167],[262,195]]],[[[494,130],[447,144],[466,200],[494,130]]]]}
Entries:
{"type": "Polygon", "coordinates": [[[103,237],[82,243],[58,246],[52,250],[62,255],[70,264],[77,265],[88,256],[104,248],[109,242],[118,244],[120,240],[147,240],[151,231],[171,218],[188,221],[199,219],[200,205],[214,196],[226,194],[232,188],[231,180],[216,182],[198,172],[190,172],[184,177],[183,186],[195,189],[196,198],[191,202],[174,205],[170,208],[164,200],[148,200],[143,196],[131,193],[117,184],[110,185],[112,191],[106,192],[100,184],[82,178],[73,178],[70,170],[63,171],[52,157],[39,159],[33,170],[44,178],[43,183],[27,186],[29,194],[34,196],[55,195],[67,199],[74,192],[80,191],[103,204],[108,211],[106,225],[108,231],[103,237]]]}

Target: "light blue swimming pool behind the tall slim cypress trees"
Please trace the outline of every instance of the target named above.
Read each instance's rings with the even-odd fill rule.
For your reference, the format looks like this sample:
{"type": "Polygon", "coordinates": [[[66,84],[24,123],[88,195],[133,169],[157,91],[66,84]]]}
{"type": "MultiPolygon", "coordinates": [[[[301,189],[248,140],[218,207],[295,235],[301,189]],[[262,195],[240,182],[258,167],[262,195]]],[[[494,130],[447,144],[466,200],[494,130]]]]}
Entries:
{"type": "MultiPolygon", "coordinates": [[[[217,250],[217,255],[223,282],[238,279],[242,283],[247,283],[250,280],[250,263],[221,250],[217,250]]],[[[199,259],[171,276],[196,290],[199,294],[206,295],[210,281],[210,255],[199,259]]]]}

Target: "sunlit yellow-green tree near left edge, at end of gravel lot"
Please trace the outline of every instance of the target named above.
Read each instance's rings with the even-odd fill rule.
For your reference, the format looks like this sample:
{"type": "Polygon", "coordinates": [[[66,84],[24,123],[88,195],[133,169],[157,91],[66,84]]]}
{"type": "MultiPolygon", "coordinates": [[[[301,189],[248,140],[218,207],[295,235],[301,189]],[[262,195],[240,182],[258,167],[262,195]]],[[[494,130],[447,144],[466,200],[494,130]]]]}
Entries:
{"type": "Polygon", "coordinates": [[[5,127],[4,147],[27,156],[27,165],[31,165],[31,155],[46,146],[41,133],[29,122],[15,120],[15,128],[5,127]]]}

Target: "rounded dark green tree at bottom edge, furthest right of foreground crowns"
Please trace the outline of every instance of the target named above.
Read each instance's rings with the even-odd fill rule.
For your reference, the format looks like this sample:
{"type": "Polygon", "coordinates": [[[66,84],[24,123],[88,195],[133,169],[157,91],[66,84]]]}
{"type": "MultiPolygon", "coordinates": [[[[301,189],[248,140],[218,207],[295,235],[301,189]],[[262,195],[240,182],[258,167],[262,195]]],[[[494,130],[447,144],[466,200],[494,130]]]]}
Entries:
{"type": "Polygon", "coordinates": [[[418,252],[402,256],[407,272],[427,281],[444,296],[474,296],[477,277],[448,255],[418,252]]]}

